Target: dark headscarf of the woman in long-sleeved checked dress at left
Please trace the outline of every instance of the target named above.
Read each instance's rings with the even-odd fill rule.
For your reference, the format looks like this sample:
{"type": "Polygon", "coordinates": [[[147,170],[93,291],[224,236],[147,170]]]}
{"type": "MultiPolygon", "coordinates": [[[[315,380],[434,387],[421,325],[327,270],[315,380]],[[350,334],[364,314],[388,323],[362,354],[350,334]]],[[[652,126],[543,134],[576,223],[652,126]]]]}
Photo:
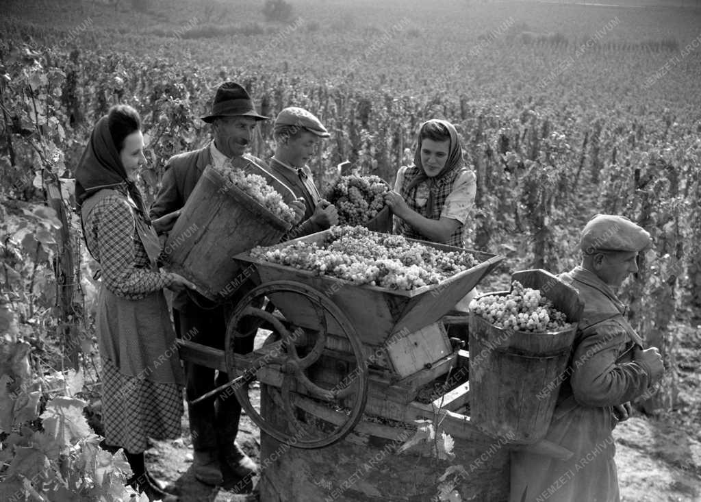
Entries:
{"type": "Polygon", "coordinates": [[[79,207],[87,198],[106,188],[126,189],[142,217],[151,222],[141,192],[136,184],[128,179],[119,152],[112,141],[107,115],[97,121],[76,168],[76,201],[79,207]]]}

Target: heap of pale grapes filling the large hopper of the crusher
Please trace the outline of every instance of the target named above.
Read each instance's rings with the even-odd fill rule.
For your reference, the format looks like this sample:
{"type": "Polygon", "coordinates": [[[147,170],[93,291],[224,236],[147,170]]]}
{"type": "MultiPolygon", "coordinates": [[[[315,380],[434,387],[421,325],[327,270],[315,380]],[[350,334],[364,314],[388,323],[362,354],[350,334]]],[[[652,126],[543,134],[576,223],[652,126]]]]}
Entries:
{"type": "Polygon", "coordinates": [[[255,247],[251,257],[393,290],[441,283],[475,266],[469,252],[444,252],[363,226],[332,226],[321,245],[304,240],[255,247]]]}

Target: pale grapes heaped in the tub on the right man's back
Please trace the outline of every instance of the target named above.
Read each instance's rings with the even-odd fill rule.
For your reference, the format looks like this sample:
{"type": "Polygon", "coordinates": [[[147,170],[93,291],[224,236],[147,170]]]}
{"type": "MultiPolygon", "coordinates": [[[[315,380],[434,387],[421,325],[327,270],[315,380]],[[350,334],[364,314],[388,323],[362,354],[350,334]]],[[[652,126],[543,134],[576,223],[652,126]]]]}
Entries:
{"type": "Polygon", "coordinates": [[[571,326],[564,313],[554,308],[539,290],[524,287],[517,280],[511,286],[509,294],[472,300],[470,311],[505,330],[553,332],[571,326]]]}

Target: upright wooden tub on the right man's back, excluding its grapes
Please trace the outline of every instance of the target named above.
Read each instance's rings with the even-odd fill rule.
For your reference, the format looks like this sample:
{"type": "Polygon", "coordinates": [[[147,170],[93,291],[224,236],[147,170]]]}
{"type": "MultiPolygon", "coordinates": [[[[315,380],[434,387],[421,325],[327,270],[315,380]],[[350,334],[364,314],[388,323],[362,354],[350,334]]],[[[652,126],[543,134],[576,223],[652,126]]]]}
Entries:
{"type": "Polygon", "coordinates": [[[576,290],[545,271],[517,272],[512,278],[539,289],[573,325],[558,332],[521,332],[470,313],[470,415],[492,437],[530,444],[545,437],[550,426],[583,304],[576,290]]]}

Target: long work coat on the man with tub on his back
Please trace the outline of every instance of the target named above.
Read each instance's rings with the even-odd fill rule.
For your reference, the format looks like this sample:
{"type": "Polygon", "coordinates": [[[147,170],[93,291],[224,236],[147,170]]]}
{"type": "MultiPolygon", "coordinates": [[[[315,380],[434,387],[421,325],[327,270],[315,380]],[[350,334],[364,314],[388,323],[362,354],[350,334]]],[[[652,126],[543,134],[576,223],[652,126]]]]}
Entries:
{"type": "Polygon", "coordinates": [[[633,359],[642,340],[613,291],[581,267],[559,278],[578,291],[585,308],[546,439],[573,456],[559,461],[513,453],[510,501],[520,502],[527,489],[527,502],[618,502],[613,406],[639,397],[655,382],[651,369],[633,359]]]}

